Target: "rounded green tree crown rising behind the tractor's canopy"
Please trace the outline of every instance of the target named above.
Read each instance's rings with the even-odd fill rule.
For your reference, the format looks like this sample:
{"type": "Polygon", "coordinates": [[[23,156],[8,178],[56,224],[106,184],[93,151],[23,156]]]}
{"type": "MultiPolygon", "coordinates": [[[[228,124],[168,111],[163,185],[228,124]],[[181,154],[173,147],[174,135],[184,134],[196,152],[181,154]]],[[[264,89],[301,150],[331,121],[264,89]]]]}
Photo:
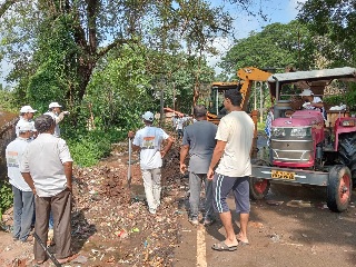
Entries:
{"type": "Polygon", "coordinates": [[[273,23],[261,32],[237,40],[222,58],[221,68],[230,73],[248,66],[260,69],[294,66],[305,70],[313,65],[313,47],[312,34],[298,21],[273,23]]]}

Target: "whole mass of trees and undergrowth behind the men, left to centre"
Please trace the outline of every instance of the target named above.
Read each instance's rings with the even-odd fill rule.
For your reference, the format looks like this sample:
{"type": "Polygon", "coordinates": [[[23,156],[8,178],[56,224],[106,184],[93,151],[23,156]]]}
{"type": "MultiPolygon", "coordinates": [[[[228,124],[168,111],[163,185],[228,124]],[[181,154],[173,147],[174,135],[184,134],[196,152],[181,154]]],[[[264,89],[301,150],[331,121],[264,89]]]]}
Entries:
{"type": "Polygon", "coordinates": [[[14,65],[9,106],[41,113],[63,105],[62,137],[88,166],[146,110],[190,113],[196,88],[214,75],[202,55],[231,19],[207,1],[6,0],[0,22],[0,57],[14,65]]]}

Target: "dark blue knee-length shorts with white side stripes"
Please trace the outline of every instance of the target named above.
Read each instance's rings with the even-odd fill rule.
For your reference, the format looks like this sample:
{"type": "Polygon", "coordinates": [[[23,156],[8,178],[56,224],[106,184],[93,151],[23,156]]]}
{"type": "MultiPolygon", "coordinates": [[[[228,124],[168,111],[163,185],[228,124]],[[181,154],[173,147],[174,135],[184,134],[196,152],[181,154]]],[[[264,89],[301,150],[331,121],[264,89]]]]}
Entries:
{"type": "Polygon", "coordinates": [[[226,202],[228,194],[233,190],[235,196],[236,212],[249,214],[249,177],[229,177],[215,174],[212,180],[214,208],[217,212],[227,212],[229,207],[226,202]]]}

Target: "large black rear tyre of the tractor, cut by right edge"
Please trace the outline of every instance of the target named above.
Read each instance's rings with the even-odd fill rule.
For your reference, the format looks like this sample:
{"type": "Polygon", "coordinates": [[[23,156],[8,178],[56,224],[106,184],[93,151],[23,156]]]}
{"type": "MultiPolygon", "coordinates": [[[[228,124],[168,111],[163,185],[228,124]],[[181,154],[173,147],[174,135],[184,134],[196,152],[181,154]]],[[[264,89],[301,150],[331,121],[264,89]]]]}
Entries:
{"type": "Polygon", "coordinates": [[[354,187],[356,186],[356,132],[343,134],[338,138],[338,152],[343,165],[352,171],[354,187]]]}

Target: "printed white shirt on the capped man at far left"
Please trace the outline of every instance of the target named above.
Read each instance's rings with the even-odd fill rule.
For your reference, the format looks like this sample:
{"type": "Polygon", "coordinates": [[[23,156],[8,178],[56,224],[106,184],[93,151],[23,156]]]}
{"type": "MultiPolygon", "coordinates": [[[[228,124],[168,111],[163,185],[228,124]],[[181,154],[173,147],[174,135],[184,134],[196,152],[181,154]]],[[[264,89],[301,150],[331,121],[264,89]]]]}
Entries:
{"type": "Polygon", "coordinates": [[[20,171],[21,158],[30,140],[18,137],[6,149],[9,182],[21,191],[32,191],[20,171]]]}

